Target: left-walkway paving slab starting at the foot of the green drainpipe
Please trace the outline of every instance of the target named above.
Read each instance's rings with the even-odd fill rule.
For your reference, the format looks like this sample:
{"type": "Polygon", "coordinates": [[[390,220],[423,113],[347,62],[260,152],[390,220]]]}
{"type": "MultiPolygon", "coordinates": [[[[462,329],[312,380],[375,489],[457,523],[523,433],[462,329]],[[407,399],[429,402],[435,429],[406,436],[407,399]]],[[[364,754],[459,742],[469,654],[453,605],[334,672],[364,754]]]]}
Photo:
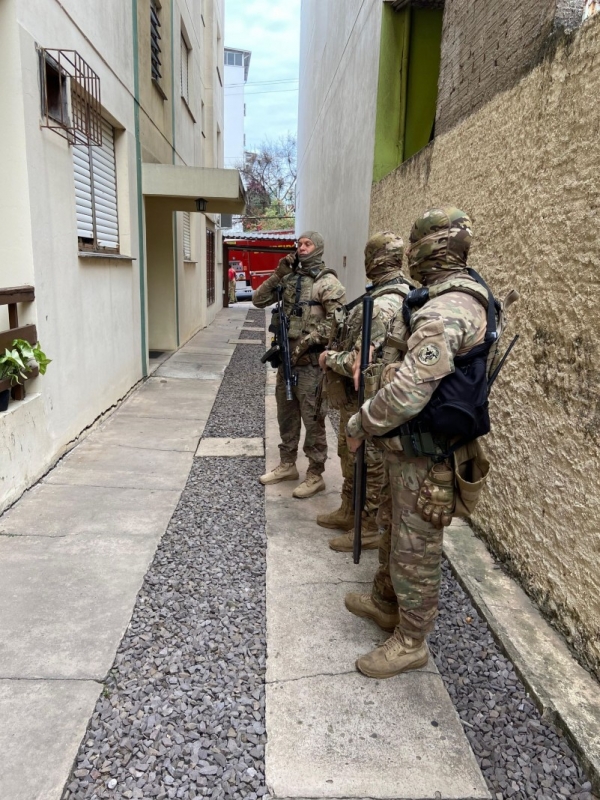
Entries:
{"type": "Polygon", "coordinates": [[[220,385],[221,377],[214,381],[148,378],[127,398],[119,409],[119,414],[206,421],[220,385]]]}

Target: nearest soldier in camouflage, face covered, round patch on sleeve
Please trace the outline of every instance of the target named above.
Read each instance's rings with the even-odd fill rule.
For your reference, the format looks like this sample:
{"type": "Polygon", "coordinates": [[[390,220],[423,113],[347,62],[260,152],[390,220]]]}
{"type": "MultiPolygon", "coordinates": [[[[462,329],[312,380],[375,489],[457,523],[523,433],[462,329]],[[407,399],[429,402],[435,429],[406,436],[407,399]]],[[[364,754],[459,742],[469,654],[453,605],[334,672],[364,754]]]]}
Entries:
{"type": "MultiPolygon", "coordinates": [[[[391,535],[382,536],[371,594],[351,593],[345,599],[353,614],[393,631],[356,662],[373,678],[417,669],[428,660],[425,639],[438,613],[443,526],[455,503],[453,471],[443,457],[419,454],[424,447],[410,452],[411,438],[393,432],[410,427],[409,420],[454,372],[455,356],[485,337],[488,295],[466,272],[470,243],[471,221],[457,208],[431,209],[415,222],[407,249],[410,275],[428,287],[429,299],[408,324],[403,314],[392,322],[386,359],[393,363],[383,370],[381,389],[348,423],[350,449],[371,437],[385,448],[380,519],[393,519],[391,535]]],[[[441,454],[454,439],[430,441],[441,454]]]]}

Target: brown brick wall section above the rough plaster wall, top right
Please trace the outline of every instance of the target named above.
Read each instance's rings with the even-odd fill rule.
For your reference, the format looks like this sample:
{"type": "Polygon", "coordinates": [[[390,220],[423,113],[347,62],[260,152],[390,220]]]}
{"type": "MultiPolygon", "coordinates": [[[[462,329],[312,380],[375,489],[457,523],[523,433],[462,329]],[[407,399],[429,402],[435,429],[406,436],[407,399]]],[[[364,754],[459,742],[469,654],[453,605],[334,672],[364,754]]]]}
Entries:
{"type": "MultiPolygon", "coordinates": [[[[568,4],[571,0],[559,0],[568,4]]],[[[537,61],[552,31],[556,0],[447,0],[436,132],[448,131],[537,61]]]]}

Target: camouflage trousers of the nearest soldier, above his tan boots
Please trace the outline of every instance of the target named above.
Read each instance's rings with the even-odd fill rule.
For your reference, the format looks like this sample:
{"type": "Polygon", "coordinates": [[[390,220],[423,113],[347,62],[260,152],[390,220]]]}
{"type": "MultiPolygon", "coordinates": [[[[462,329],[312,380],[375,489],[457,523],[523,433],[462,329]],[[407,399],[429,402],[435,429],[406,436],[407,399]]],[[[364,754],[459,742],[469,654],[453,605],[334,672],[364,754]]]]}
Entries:
{"type": "Polygon", "coordinates": [[[424,639],[435,627],[442,570],[444,529],[416,511],[419,489],[432,465],[429,458],[384,455],[385,484],[377,522],[382,531],[379,568],[372,598],[386,613],[399,612],[399,630],[424,639]]]}

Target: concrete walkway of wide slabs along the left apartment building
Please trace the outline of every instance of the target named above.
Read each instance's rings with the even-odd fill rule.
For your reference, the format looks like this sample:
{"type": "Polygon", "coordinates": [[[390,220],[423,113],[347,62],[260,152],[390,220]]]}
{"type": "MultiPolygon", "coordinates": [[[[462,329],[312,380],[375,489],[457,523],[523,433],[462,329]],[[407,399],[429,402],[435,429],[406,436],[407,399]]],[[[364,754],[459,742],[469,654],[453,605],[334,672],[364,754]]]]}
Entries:
{"type": "Polygon", "coordinates": [[[61,796],[246,312],[220,312],[0,518],[2,800],[61,796]]]}

